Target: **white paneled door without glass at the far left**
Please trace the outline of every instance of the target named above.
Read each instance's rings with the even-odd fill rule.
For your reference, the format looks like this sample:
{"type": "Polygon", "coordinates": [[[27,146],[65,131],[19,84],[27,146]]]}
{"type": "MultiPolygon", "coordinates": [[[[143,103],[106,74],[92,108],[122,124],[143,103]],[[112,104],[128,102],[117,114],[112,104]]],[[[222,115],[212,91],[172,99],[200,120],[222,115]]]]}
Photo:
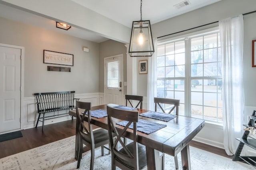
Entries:
{"type": "Polygon", "coordinates": [[[20,129],[21,49],[0,46],[0,133],[20,129]]]}

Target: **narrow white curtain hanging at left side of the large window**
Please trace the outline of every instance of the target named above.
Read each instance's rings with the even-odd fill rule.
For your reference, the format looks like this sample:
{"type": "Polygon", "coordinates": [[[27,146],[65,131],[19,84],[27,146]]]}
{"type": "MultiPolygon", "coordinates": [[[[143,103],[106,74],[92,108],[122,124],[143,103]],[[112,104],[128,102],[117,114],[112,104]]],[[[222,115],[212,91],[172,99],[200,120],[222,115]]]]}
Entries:
{"type": "Polygon", "coordinates": [[[148,89],[147,89],[147,109],[154,111],[154,97],[156,97],[156,56],[157,56],[157,38],[153,39],[154,54],[148,57],[148,89]]]}

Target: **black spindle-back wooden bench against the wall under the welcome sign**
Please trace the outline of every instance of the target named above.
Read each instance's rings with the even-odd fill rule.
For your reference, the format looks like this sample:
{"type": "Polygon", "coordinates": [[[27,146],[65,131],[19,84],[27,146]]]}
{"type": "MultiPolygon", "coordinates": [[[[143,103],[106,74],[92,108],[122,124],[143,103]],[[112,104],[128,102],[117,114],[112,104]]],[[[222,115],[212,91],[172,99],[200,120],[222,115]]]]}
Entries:
{"type": "Polygon", "coordinates": [[[58,115],[49,115],[49,116],[45,116],[45,114],[50,112],[55,112],[55,111],[72,110],[74,108],[74,100],[75,100],[74,93],[75,91],[34,93],[36,97],[37,113],[39,113],[39,116],[36,122],[36,127],[38,125],[38,121],[42,122],[43,123],[42,132],[43,132],[44,120],[68,116],[68,113],[61,113],[58,115]],[[43,117],[40,117],[41,114],[43,115],[43,117]]]}

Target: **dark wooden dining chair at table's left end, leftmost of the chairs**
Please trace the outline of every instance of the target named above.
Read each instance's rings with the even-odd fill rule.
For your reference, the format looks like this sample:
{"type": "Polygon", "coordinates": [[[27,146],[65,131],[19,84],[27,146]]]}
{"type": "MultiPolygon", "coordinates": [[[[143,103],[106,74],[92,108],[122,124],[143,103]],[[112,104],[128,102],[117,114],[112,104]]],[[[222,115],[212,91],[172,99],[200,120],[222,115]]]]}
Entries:
{"type": "Polygon", "coordinates": [[[80,167],[80,161],[82,158],[83,152],[83,144],[91,150],[91,160],[90,160],[90,170],[93,170],[94,166],[94,150],[101,146],[101,155],[104,155],[104,148],[109,150],[108,154],[110,154],[110,149],[104,146],[105,144],[109,144],[108,140],[108,130],[103,128],[98,128],[96,130],[92,130],[91,124],[91,103],[90,102],[82,102],[76,101],[76,126],[79,129],[78,135],[78,161],[77,168],[80,167]],[[83,109],[82,115],[79,113],[79,109],[83,109]],[[88,128],[84,125],[84,117],[88,113],[88,128]]]}

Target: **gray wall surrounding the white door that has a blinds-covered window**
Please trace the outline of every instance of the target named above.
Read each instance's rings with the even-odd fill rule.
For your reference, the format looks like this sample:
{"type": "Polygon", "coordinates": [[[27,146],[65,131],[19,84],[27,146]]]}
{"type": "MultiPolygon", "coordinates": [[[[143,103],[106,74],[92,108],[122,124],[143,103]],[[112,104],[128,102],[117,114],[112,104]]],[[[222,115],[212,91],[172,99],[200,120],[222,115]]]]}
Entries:
{"type": "MultiPolygon", "coordinates": [[[[100,43],[100,61],[99,61],[99,92],[104,93],[104,57],[110,57],[118,54],[123,54],[123,80],[127,81],[126,75],[126,47],[124,43],[108,40],[100,43]]],[[[124,95],[127,88],[123,86],[124,95]]]]}

